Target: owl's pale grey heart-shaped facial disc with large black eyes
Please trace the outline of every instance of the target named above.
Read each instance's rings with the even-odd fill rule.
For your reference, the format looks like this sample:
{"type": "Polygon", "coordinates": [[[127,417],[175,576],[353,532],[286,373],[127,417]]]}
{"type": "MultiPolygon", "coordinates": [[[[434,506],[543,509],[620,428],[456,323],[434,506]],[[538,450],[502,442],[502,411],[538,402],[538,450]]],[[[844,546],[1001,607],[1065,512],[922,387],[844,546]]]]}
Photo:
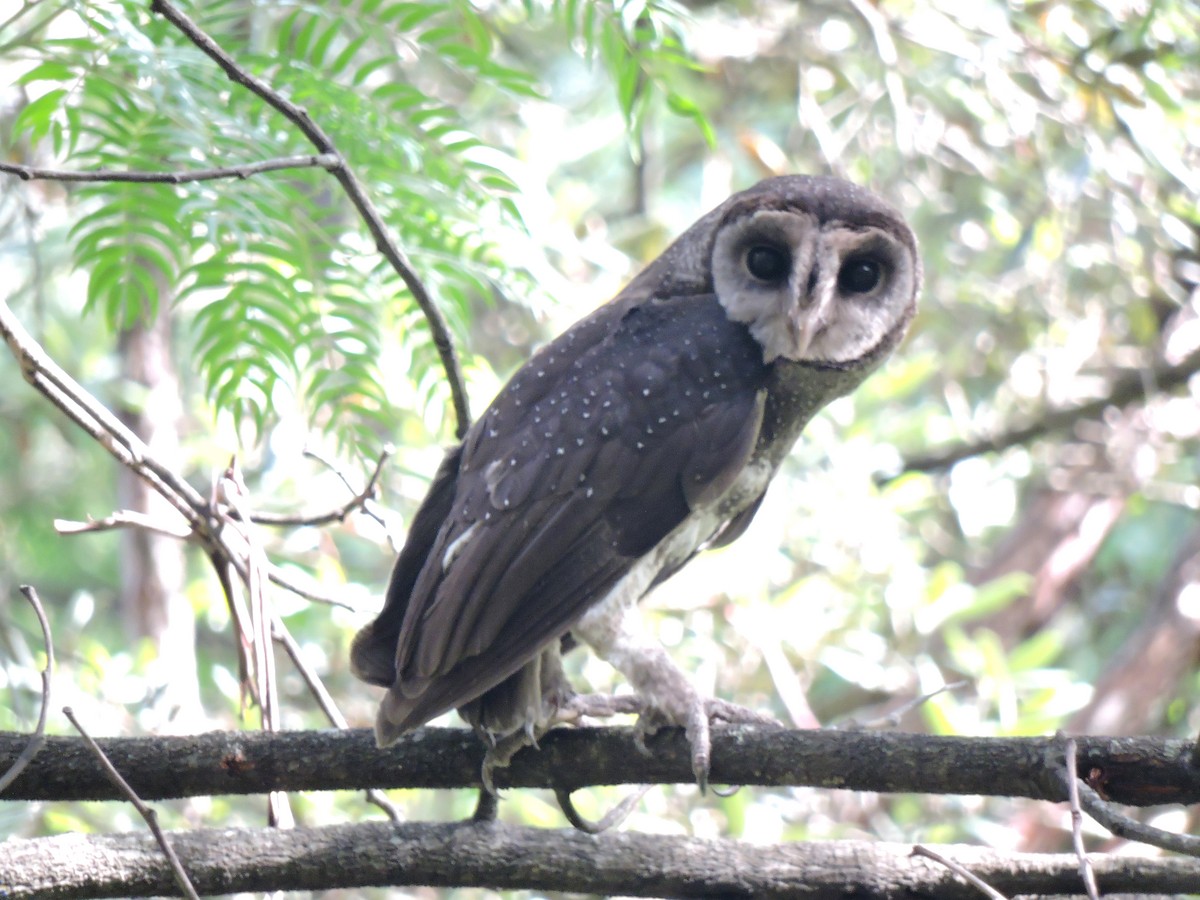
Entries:
{"type": "Polygon", "coordinates": [[[725,222],[712,264],[718,299],[749,325],[767,362],[862,359],[910,314],[918,277],[888,232],[798,209],[725,222]]]}

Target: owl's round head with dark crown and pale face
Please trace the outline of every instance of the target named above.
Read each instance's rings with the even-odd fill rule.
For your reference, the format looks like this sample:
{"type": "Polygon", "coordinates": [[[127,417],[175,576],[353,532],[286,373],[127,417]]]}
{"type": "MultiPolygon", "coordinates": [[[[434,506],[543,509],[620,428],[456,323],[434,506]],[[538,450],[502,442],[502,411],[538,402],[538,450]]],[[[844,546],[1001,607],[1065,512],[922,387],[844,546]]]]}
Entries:
{"type": "Polygon", "coordinates": [[[767,362],[848,367],[900,341],[917,308],[920,259],[904,218],[874,193],[785,175],[714,214],[713,290],[767,362]]]}

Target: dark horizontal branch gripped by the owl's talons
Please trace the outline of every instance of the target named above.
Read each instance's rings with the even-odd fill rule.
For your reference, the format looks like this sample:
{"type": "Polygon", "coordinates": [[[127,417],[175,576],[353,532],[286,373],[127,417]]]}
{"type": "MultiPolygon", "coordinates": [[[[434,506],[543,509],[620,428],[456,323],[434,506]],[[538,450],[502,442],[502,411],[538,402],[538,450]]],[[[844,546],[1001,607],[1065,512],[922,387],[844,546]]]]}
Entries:
{"type": "MultiPolygon", "coordinates": [[[[0,736],[0,769],[24,746],[0,736]]],[[[372,733],[214,732],[98,742],[144,799],[350,791],[364,787],[478,787],[484,748],[469,731],[419,728],[377,749],[372,733]]],[[[1078,738],[1079,769],[1115,803],[1200,803],[1192,744],[1153,738],[1078,738]]],[[[683,732],[670,728],[638,752],[632,728],[556,728],[541,749],[497,769],[499,787],[691,784],[683,732]]],[[[853,791],[997,794],[1063,802],[1056,738],[956,738],[871,731],[714,728],[713,784],[810,785],[853,791]],[[1048,760],[1057,760],[1051,764],[1048,760]]],[[[119,799],[74,738],[50,737],[7,799],[119,799]]]]}

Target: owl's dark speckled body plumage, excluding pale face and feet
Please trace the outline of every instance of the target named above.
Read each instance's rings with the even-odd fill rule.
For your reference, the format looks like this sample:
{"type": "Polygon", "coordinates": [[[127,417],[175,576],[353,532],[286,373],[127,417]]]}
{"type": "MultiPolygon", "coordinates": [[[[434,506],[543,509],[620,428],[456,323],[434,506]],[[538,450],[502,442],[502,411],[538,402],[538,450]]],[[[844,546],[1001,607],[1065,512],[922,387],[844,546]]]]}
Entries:
{"type": "Polygon", "coordinates": [[[446,455],[385,606],[354,641],[355,673],[389,689],[380,740],[456,707],[488,732],[529,727],[545,713],[528,694],[547,690],[542,650],[601,601],[636,601],[703,546],[738,536],[809,419],[900,341],[919,277],[912,233],[875,194],[769,179],[535,354],[446,455]],[[905,256],[912,295],[859,358],[768,361],[733,320],[714,241],[763,210],[796,211],[792,227],[830,228],[829,240],[878,232],[905,256]]]}

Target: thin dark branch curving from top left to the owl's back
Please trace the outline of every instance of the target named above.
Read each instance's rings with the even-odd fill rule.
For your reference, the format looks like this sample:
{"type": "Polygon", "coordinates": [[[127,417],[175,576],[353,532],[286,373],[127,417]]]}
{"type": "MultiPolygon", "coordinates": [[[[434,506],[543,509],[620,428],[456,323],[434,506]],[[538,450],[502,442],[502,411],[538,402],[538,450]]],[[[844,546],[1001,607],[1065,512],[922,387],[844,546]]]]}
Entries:
{"type": "Polygon", "coordinates": [[[400,275],[409,293],[413,295],[413,299],[416,301],[416,305],[421,307],[421,313],[425,316],[425,319],[430,325],[430,334],[433,336],[433,346],[437,348],[438,356],[442,360],[442,367],[445,370],[446,382],[450,384],[450,396],[454,401],[455,418],[457,420],[455,433],[460,438],[464,437],[467,428],[470,427],[470,407],[467,402],[467,388],[462,377],[462,365],[458,361],[458,353],[450,338],[450,326],[446,323],[445,316],[442,314],[442,310],[433,302],[433,299],[430,296],[425,284],[416,275],[416,271],[413,269],[413,265],[404,254],[404,251],[402,251],[388,234],[388,227],[384,224],[383,217],[374,208],[374,204],[371,203],[371,199],[367,197],[367,193],[364,190],[362,184],[358,180],[358,176],[346,163],[342,155],[337,151],[337,146],[334,144],[332,139],[312,120],[312,118],[310,118],[307,112],[280,95],[278,91],[274,90],[265,82],[259,80],[254,76],[250,74],[250,72],[245,68],[239,66],[228,53],[221,49],[216,41],[202,31],[200,28],[192,22],[192,19],[190,19],[174,5],[167,2],[167,0],[152,0],[150,10],[151,12],[158,13],[172,25],[179,29],[188,41],[196,44],[200,52],[221,67],[221,70],[229,77],[229,80],[234,84],[241,85],[258,96],[268,106],[276,109],[288,121],[300,128],[304,136],[308,138],[319,152],[334,154],[337,156],[338,164],[329,167],[330,174],[337,179],[342,190],[346,191],[350,203],[354,204],[354,208],[359,211],[362,221],[366,222],[367,230],[371,232],[376,247],[391,264],[392,269],[395,269],[400,275]]]}

